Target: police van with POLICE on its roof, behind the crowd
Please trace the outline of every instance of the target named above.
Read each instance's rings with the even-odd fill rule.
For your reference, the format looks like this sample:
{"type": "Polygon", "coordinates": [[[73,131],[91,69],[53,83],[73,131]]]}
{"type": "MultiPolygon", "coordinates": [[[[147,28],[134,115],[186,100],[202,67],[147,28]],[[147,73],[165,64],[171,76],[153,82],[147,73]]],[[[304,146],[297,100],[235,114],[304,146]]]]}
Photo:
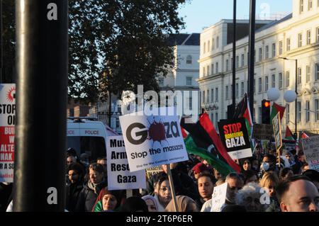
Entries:
{"type": "Polygon", "coordinates": [[[118,135],[97,118],[69,117],[67,119],[67,148],[74,148],[77,155],[89,155],[91,160],[106,156],[106,137],[118,135]]]}

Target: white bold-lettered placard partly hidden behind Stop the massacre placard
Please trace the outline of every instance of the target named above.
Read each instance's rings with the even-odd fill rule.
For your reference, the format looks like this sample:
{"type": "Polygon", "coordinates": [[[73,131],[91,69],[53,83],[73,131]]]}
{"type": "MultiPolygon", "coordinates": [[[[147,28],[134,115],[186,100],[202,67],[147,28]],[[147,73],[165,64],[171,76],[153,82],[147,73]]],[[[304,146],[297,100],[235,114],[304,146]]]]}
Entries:
{"type": "Polygon", "coordinates": [[[107,137],[108,190],[146,188],[145,170],[130,172],[122,136],[107,137]]]}

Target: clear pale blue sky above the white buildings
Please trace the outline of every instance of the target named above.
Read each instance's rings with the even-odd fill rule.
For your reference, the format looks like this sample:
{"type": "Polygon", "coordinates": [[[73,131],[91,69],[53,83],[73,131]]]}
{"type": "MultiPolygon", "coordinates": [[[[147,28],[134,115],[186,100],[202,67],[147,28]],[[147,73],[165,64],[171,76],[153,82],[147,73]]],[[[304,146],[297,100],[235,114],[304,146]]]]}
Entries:
{"type": "MultiPolygon", "coordinates": [[[[292,1],[257,0],[256,14],[262,17],[289,14],[292,11],[292,1]]],[[[237,0],[236,12],[237,19],[249,19],[250,0],[237,0]]],[[[191,0],[179,9],[179,16],[184,17],[186,22],[182,33],[201,33],[204,27],[212,26],[221,19],[233,19],[233,0],[191,0]]]]}

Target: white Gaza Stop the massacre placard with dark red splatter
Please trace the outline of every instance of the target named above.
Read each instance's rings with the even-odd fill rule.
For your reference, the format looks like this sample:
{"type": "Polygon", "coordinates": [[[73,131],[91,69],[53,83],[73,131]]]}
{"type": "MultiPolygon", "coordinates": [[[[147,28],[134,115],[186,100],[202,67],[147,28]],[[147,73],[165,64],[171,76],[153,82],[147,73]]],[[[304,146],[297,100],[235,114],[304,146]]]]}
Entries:
{"type": "Polygon", "coordinates": [[[177,115],[122,115],[120,123],[130,171],[189,159],[177,115]]]}

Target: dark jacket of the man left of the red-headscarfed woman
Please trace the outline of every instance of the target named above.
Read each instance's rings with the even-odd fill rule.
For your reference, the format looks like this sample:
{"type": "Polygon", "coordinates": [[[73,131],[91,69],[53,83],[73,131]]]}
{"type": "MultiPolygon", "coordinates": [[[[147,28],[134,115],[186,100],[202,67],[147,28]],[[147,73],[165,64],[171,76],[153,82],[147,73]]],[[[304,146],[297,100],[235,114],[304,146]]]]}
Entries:
{"type": "MultiPolygon", "coordinates": [[[[98,185],[98,191],[101,191],[102,188],[106,187],[106,182],[101,182],[98,185]]],[[[77,200],[77,205],[75,211],[77,212],[91,212],[99,193],[95,193],[87,183],[82,188],[82,191],[79,193],[79,198],[77,200]]]]}

